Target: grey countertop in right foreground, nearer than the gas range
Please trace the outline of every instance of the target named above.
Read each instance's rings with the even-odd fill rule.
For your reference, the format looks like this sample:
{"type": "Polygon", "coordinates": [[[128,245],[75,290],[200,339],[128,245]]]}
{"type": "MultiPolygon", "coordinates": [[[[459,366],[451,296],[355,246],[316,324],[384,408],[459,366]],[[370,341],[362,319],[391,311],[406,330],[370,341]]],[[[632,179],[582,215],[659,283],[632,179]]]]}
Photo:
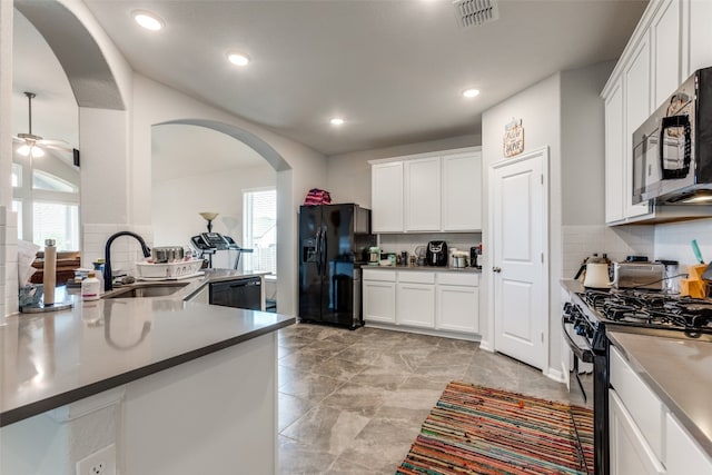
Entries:
{"type": "Polygon", "coordinates": [[[712,457],[712,343],[621,331],[606,335],[712,457]]]}

